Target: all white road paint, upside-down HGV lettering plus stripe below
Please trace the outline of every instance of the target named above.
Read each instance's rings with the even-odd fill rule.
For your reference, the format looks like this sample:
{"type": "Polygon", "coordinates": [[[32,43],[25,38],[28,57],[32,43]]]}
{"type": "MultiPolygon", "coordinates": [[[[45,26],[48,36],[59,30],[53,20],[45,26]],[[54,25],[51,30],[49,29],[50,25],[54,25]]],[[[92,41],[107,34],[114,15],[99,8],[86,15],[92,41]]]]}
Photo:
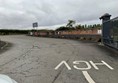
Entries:
{"type": "MultiPolygon", "coordinates": [[[[68,63],[66,61],[62,61],[61,63],[59,63],[59,65],[57,65],[55,67],[55,70],[57,70],[61,65],[65,65],[66,68],[68,70],[71,70],[71,67],[68,65],[68,63]]],[[[114,70],[113,67],[111,67],[109,64],[107,64],[105,61],[101,61],[101,63],[94,63],[93,61],[74,61],[73,62],[73,68],[77,69],[77,70],[82,70],[82,73],[84,75],[84,77],[86,78],[86,80],[89,82],[89,83],[95,83],[95,81],[91,78],[91,76],[88,74],[87,70],[91,69],[91,65],[96,69],[96,70],[99,70],[99,68],[97,66],[100,66],[100,65],[104,65],[106,67],[108,67],[110,70],[114,70]],[[77,65],[79,65],[80,63],[84,63],[86,64],[87,67],[85,68],[79,68],[77,67],[77,65]]]]}

